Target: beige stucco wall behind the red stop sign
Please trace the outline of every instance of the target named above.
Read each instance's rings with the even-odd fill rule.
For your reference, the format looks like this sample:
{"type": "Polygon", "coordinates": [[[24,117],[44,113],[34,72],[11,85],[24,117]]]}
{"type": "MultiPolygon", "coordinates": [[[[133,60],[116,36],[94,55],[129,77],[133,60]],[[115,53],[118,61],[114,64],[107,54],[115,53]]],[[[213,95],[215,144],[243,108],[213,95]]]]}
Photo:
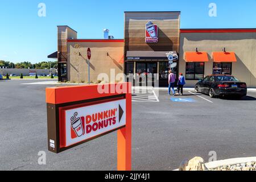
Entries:
{"type": "Polygon", "coordinates": [[[109,76],[110,70],[114,69],[115,75],[123,73],[123,42],[68,42],[68,80],[71,82],[88,82],[88,63],[87,49],[90,47],[92,58],[90,60],[90,81],[97,82],[100,73],[106,73],[109,76]],[[75,45],[79,44],[79,52],[82,56],[75,55],[77,49],[75,45]],[[78,66],[79,65],[79,66],[78,66]],[[80,76],[77,77],[77,68],[80,76]]]}

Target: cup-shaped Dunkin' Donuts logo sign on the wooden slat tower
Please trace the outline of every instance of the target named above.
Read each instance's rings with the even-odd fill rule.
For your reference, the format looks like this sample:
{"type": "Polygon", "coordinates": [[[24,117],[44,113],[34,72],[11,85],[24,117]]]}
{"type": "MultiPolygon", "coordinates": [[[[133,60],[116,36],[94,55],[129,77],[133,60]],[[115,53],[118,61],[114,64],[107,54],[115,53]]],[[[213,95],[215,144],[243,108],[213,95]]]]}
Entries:
{"type": "Polygon", "coordinates": [[[158,26],[149,21],[146,24],[146,43],[158,43],[158,26]]]}

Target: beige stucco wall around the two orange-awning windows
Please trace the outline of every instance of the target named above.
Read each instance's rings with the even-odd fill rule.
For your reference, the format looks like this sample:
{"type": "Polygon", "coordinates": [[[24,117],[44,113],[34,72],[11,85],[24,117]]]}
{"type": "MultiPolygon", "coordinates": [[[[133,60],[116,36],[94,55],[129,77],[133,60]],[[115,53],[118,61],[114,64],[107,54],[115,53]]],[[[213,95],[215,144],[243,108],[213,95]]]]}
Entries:
{"type": "MultiPolygon", "coordinates": [[[[205,63],[205,76],[212,74],[212,52],[235,52],[237,62],[232,64],[232,75],[245,81],[251,88],[256,88],[256,33],[181,33],[179,72],[185,74],[184,52],[208,52],[209,62],[205,63]]],[[[186,86],[195,86],[197,81],[187,80],[186,86]]]]}

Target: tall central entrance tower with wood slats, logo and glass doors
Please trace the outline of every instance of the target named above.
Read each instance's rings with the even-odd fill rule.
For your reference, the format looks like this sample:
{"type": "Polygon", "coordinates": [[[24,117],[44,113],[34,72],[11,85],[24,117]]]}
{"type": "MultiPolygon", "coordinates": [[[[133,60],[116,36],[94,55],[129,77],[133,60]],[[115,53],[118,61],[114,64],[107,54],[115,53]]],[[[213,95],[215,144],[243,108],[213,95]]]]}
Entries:
{"type": "Polygon", "coordinates": [[[125,74],[134,85],[168,85],[172,53],[172,71],[178,74],[180,12],[125,12],[125,74]],[[130,76],[129,76],[130,75],[130,76]],[[131,79],[130,79],[131,80],[131,79]]]}

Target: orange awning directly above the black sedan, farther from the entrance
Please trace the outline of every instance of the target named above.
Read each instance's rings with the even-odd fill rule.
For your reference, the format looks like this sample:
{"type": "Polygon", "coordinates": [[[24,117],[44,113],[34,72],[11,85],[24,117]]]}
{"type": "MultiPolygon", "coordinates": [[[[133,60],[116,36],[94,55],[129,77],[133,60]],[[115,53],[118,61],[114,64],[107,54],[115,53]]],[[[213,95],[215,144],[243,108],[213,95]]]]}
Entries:
{"type": "Polygon", "coordinates": [[[215,63],[237,62],[236,53],[234,52],[213,52],[212,57],[215,63]]]}

